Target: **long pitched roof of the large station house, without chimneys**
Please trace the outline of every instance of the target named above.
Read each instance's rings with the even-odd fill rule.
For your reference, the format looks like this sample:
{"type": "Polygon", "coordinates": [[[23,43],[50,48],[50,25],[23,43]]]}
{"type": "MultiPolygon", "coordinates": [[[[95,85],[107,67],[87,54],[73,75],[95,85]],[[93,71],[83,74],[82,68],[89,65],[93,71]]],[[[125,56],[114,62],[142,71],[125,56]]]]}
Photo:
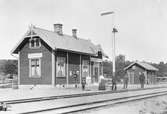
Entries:
{"type": "MultiPolygon", "coordinates": [[[[63,49],[68,51],[80,52],[90,55],[97,55],[98,51],[101,51],[105,56],[101,46],[94,45],[90,40],[85,40],[81,38],[74,38],[69,35],[59,35],[56,32],[48,31],[38,27],[31,28],[31,32],[39,36],[43,41],[45,41],[53,50],[63,49]]],[[[28,38],[30,30],[26,33],[23,39],[16,45],[12,50],[12,53],[18,53],[18,48],[21,43],[28,38]]]]}

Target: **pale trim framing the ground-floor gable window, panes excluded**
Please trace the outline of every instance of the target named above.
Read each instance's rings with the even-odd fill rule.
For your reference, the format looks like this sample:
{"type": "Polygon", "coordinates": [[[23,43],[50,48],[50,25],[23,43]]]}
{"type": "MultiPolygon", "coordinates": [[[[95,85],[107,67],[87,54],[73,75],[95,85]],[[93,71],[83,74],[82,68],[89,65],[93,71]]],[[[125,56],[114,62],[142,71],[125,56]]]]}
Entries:
{"type": "Polygon", "coordinates": [[[41,58],[29,58],[29,78],[41,78],[41,58]],[[39,76],[31,75],[31,60],[38,59],[39,60],[39,76]]]}

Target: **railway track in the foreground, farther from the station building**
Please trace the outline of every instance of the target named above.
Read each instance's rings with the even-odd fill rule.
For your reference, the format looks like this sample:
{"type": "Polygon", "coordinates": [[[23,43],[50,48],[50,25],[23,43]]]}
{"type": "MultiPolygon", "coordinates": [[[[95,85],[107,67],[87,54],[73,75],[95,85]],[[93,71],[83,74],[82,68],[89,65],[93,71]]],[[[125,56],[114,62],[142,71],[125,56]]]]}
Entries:
{"type": "Polygon", "coordinates": [[[106,99],[106,100],[97,100],[93,102],[87,102],[87,103],[80,103],[75,105],[68,105],[68,106],[62,106],[62,107],[55,107],[55,108],[47,108],[47,109],[41,109],[36,111],[28,111],[23,112],[20,114],[33,114],[33,113],[53,113],[53,114],[67,114],[67,113],[76,113],[76,112],[83,112],[86,110],[92,110],[96,108],[101,108],[105,106],[112,106],[115,104],[121,104],[121,103],[127,103],[132,101],[137,101],[141,99],[148,99],[152,97],[157,96],[163,96],[167,95],[167,91],[160,91],[160,92],[151,92],[147,94],[140,94],[140,95],[130,95],[126,97],[119,97],[114,99],[106,99]]]}

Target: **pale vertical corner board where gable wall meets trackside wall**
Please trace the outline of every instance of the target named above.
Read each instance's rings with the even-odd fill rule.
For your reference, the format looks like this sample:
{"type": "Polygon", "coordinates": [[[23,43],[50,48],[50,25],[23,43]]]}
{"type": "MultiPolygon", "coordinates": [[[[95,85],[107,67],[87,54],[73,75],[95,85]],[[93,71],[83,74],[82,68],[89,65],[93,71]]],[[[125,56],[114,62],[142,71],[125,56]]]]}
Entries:
{"type": "Polygon", "coordinates": [[[52,51],[52,86],[55,86],[55,52],[52,51]]]}

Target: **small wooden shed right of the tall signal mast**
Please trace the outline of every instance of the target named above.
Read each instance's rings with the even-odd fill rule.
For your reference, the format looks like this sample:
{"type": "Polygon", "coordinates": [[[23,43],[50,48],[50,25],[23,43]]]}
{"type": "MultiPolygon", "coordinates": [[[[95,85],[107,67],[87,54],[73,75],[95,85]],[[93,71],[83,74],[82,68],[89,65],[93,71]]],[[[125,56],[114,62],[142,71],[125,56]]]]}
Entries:
{"type": "Polygon", "coordinates": [[[156,82],[156,72],[158,71],[158,69],[148,63],[134,62],[129,66],[125,67],[124,70],[129,77],[130,84],[138,84],[139,75],[142,72],[145,75],[146,84],[154,84],[156,82]]]}

